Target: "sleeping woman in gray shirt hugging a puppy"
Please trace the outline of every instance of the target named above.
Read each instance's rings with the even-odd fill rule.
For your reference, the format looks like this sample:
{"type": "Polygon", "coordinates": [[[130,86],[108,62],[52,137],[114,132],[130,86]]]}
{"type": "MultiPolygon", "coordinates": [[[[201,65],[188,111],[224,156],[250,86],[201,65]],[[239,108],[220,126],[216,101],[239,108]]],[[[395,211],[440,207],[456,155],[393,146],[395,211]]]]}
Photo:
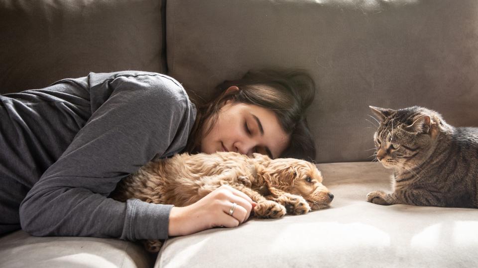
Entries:
{"type": "Polygon", "coordinates": [[[255,203],[227,186],[186,207],[108,198],[147,161],[185,150],[314,159],[307,75],[250,72],[218,90],[196,110],[173,78],[125,71],[0,96],[0,234],[21,223],[36,236],[137,240],[238,226],[255,203]]]}

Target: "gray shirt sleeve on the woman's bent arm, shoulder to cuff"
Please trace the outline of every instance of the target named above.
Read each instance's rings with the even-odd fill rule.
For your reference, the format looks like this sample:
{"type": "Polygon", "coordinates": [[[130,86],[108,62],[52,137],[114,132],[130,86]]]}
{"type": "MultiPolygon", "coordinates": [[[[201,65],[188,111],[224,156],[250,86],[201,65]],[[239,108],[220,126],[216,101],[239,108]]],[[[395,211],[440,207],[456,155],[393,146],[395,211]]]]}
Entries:
{"type": "Polygon", "coordinates": [[[36,236],[166,239],[172,205],[107,197],[147,161],[185,146],[195,107],[166,75],[89,78],[92,116],[22,201],[22,229],[36,236]],[[105,92],[111,95],[95,108],[95,94],[105,92]]]}

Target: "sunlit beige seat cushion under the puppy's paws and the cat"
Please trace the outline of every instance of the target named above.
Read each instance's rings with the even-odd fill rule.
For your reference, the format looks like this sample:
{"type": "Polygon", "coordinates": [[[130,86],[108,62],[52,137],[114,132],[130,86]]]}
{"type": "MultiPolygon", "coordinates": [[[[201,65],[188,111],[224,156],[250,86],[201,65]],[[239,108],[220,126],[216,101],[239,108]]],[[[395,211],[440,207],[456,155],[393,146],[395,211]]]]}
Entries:
{"type": "Polygon", "coordinates": [[[330,208],[169,239],[155,267],[478,267],[477,209],[368,203],[369,192],[390,189],[389,170],[319,169],[330,208]]]}

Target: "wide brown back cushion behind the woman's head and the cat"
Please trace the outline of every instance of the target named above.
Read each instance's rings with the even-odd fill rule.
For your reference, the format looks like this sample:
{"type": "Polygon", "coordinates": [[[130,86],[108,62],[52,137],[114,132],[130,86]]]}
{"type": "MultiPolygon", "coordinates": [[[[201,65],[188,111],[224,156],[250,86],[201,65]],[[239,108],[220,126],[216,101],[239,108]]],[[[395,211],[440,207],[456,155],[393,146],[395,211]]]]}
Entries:
{"type": "Polygon", "coordinates": [[[363,161],[369,105],[478,126],[477,10],[476,0],[168,1],[169,74],[207,96],[250,68],[304,68],[319,87],[317,161],[363,161]]]}

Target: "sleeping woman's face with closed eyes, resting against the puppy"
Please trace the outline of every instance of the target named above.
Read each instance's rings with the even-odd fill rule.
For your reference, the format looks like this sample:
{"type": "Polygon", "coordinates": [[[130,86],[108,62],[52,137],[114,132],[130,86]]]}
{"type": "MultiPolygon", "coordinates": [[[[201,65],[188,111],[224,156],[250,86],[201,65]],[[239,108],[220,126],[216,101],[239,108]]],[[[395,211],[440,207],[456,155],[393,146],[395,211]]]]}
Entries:
{"type": "Polygon", "coordinates": [[[202,130],[201,152],[257,152],[276,158],[289,144],[290,135],[282,130],[276,115],[256,105],[227,101],[217,121],[210,121],[211,118],[202,130]],[[205,135],[210,124],[213,128],[205,135]]]}

